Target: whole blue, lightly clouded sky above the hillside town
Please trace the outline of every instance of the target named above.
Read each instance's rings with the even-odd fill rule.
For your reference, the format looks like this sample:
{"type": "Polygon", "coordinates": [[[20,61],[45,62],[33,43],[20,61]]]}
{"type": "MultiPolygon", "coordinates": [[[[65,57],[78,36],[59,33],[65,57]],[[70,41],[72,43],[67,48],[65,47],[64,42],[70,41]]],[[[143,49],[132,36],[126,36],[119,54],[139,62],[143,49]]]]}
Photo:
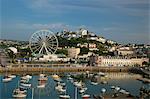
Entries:
{"type": "Polygon", "coordinates": [[[119,43],[150,44],[150,0],[0,0],[0,38],[40,29],[88,29],[119,43]]]}

